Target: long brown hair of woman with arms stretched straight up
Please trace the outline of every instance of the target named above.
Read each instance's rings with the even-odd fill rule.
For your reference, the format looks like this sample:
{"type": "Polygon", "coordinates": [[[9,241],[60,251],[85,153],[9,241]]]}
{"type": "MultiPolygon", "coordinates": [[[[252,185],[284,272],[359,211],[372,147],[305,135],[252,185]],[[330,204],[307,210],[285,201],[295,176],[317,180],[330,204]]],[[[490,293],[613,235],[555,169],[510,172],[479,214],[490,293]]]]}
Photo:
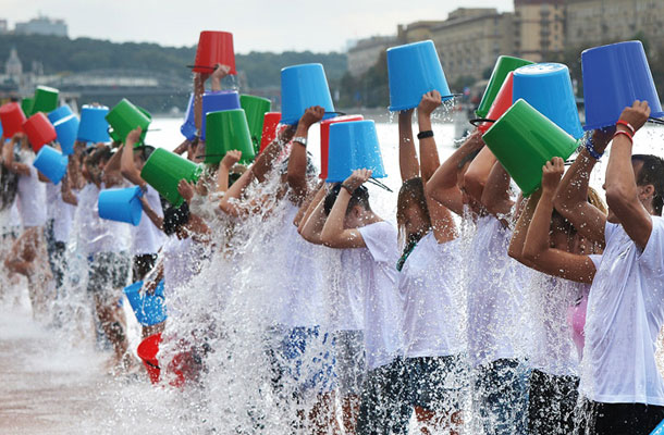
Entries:
{"type": "Polygon", "coordinates": [[[398,198],[396,200],[396,225],[398,227],[399,245],[404,247],[402,258],[396,264],[397,270],[401,270],[417,243],[431,231],[431,216],[429,215],[429,207],[427,206],[427,196],[425,194],[422,178],[415,177],[407,179],[398,190],[398,198]],[[406,210],[413,206],[417,207],[427,225],[425,231],[406,234],[406,210]]]}

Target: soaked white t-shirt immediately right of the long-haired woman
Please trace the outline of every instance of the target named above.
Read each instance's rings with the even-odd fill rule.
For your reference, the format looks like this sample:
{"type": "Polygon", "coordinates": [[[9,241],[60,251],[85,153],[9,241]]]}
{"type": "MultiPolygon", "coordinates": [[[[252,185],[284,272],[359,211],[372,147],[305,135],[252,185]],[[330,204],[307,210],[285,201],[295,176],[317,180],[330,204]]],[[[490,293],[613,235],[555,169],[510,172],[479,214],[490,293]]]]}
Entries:
{"type": "Polygon", "coordinates": [[[511,237],[494,216],[479,219],[466,277],[468,357],[475,365],[524,358],[531,345],[525,303],[530,272],[509,258],[511,237]]]}

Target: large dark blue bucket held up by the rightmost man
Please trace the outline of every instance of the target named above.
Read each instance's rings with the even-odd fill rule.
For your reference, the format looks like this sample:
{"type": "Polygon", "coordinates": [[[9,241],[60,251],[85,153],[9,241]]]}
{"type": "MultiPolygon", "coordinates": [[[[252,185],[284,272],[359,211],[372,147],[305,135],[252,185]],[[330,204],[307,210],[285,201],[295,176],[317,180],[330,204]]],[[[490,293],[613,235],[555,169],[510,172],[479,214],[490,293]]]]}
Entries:
{"type": "Polygon", "coordinates": [[[635,100],[650,104],[650,115],[664,115],[648,58],[641,41],[595,47],[581,53],[586,126],[597,129],[615,125],[635,100]]]}

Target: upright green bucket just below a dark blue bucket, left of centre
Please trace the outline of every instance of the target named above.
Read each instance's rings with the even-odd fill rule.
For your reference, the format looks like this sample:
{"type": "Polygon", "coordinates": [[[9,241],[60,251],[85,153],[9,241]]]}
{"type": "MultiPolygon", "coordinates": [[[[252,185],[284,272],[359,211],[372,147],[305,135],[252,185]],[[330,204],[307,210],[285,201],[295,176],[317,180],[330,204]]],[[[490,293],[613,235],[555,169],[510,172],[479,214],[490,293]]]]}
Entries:
{"type": "Polygon", "coordinates": [[[243,109],[210,112],[206,116],[206,163],[219,163],[226,151],[242,151],[242,163],[254,160],[255,151],[243,109]]]}

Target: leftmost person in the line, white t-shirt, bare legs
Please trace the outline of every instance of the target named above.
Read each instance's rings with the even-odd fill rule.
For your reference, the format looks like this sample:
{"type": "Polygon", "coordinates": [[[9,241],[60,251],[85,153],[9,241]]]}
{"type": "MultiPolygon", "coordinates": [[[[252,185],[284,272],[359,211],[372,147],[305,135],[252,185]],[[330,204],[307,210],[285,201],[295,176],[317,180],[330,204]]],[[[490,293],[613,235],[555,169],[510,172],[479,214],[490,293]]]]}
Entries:
{"type": "Polygon", "coordinates": [[[47,286],[52,273],[44,233],[47,219],[45,183],[48,183],[48,178],[30,164],[34,159],[33,147],[23,133],[16,133],[2,146],[2,165],[19,176],[16,202],[23,224],[23,234],[12,246],[4,265],[10,272],[27,277],[33,315],[39,318],[46,314],[48,300],[52,296],[48,295],[47,286]],[[20,162],[14,160],[17,146],[20,162]]]}

